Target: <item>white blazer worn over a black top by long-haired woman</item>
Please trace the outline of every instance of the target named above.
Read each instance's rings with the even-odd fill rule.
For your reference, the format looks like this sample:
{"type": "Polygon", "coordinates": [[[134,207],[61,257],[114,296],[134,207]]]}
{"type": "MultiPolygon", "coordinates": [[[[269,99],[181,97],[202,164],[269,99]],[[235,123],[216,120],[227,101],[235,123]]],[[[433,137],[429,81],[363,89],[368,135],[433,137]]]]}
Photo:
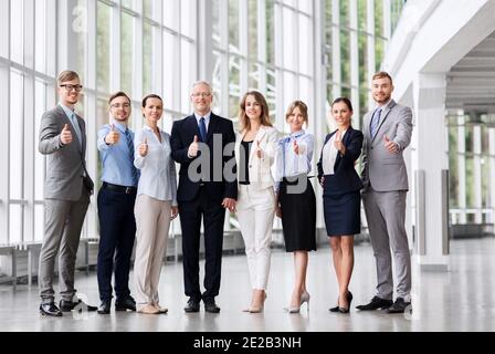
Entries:
{"type": "MultiPolygon", "coordinates": [[[[244,138],[245,132],[238,134],[235,138],[235,162],[238,163],[238,180],[240,171],[240,153],[241,142],[244,138]]],[[[274,180],[272,176],[272,165],[275,160],[276,145],[278,139],[278,132],[274,127],[262,125],[251,146],[249,158],[250,186],[255,189],[266,189],[273,187],[274,180]],[[260,143],[260,148],[263,150],[261,158],[257,158],[255,152],[260,143]]]]}

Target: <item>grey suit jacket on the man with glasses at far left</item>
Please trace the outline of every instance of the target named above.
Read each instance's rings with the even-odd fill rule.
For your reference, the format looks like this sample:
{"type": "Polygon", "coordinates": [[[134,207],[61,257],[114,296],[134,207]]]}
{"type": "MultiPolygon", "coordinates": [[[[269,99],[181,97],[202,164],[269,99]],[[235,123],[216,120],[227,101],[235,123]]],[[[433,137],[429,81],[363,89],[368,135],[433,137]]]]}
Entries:
{"type": "Polygon", "coordinates": [[[93,180],[87,174],[85,162],[86,126],[83,118],[78,115],[76,117],[81,128],[82,144],[80,144],[71,121],[60,105],[44,113],[41,118],[38,148],[41,154],[48,155],[44,185],[45,199],[78,200],[83,184],[89,194],[93,191],[93,180]],[[62,145],[60,134],[65,124],[69,124],[73,142],[62,145]],[[83,178],[84,175],[86,175],[85,178],[83,178]]]}

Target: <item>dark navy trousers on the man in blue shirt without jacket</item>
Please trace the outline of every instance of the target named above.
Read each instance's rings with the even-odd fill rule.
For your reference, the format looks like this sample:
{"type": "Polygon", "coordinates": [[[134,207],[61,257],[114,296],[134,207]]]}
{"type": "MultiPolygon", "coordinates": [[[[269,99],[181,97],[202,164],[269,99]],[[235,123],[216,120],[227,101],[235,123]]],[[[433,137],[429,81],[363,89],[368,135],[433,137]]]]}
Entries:
{"type": "Polygon", "coordinates": [[[136,191],[126,194],[105,187],[99,189],[97,277],[102,301],[112,299],[112,274],[114,272],[117,301],[125,300],[130,295],[129,268],[136,238],[135,201],[136,191]]]}

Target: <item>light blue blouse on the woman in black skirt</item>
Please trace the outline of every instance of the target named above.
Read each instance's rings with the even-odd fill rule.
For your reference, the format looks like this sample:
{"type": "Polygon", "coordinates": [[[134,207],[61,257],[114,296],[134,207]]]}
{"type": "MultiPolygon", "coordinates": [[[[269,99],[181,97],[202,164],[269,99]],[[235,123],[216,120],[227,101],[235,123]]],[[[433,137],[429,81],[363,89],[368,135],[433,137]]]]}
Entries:
{"type": "Polygon", "coordinates": [[[284,177],[308,174],[312,170],[315,136],[304,131],[295,132],[278,140],[275,164],[275,191],[284,177]],[[294,140],[299,146],[299,155],[294,153],[294,140]]]}

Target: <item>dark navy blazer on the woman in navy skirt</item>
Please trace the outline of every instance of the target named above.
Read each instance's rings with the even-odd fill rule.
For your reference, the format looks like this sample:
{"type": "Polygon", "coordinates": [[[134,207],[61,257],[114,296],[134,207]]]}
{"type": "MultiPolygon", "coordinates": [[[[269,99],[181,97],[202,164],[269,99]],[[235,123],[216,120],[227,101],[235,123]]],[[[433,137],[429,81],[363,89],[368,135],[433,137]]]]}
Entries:
{"type": "MultiPolygon", "coordinates": [[[[325,144],[337,131],[330,133],[325,138],[325,144]]],[[[360,131],[349,127],[344,135],[344,146],[346,146],[346,154],[343,156],[338,153],[334,165],[334,175],[326,175],[323,186],[323,195],[341,195],[346,192],[356,191],[362,188],[361,179],[356,169],[355,162],[361,155],[364,135],[360,131]]],[[[325,146],[324,144],[324,146],[325,146]]],[[[318,180],[324,176],[323,171],[323,148],[318,162],[318,180]]]]}

